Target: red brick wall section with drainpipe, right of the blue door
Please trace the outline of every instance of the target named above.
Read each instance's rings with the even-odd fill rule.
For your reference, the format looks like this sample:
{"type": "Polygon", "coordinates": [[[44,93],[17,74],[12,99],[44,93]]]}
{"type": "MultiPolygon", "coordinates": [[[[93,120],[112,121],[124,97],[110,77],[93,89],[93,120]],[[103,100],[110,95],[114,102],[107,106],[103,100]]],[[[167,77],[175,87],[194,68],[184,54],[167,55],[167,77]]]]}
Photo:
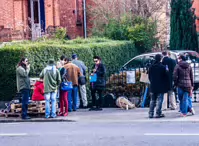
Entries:
{"type": "Polygon", "coordinates": [[[60,0],[60,26],[67,29],[68,35],[72,39],[84,36],[83,0],[60,0]],[[78,16],[82,24],[77,26],[78,16]]]}

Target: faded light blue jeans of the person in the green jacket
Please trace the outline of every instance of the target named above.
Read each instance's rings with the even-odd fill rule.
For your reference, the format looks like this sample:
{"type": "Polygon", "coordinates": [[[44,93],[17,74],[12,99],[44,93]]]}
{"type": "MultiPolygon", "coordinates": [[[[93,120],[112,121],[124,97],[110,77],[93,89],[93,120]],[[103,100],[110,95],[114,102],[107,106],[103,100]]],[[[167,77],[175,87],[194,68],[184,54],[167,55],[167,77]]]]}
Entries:
{"type": "Polygon", "coordinates": [[[45,93],[45,100],[46,100],[46,118],[50,116],[52,118],[56,117],[56,92],[45,93]],[[51,108],[52,111],[50,112],[50,101],[51,101],[51,108]]]}

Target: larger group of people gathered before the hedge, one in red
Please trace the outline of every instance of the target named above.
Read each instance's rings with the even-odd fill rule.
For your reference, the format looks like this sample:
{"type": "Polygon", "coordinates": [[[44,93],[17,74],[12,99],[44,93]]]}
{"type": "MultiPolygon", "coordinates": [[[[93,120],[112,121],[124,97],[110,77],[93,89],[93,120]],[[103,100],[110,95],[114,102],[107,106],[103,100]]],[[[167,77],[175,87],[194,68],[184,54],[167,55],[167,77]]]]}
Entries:
{"type": "MultiPolygon", "coordinates": [[[[99,56],[94,56],[93,61],[90,73],[90,78],[93,78],[93,81],[90,81],[92,107],[89,110],[100,111],[103,104],[102,92],[105,88],[106,69],[99,56]]],[[[27,113],[31,89],[29,72],[29,61],[27,58],[22,58],[16,69],[17,90],[22,95],[22,119],[30,119],[27,113]]],[[[40,80],[34,85],[32,95],[34,101],[45,100],[46,118],[57,117],[57,97],[60,103],[58,116],[67,116],[68,112],[76,111],[80,106],[80,97],[83,108],[87,108],[86,72],[87,67],[78,59],[77,54],[72,55],[72,60],[62,55],[57,63],[54,59],[48,61],[48,65],[40,73],[40,80]]]]}

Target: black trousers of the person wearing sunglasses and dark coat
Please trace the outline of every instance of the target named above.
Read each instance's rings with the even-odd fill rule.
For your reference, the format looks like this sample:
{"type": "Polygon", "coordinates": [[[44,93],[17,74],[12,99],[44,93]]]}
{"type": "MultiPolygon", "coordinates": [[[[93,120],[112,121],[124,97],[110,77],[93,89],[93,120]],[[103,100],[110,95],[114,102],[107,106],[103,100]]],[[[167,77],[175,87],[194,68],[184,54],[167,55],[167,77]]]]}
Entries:
{"type": "Polygon", "coordinates": [[[97,108],[102,108],[103,106],[102,92],[103,90],[100,90],[100,89],[91,89],[93,107],[96,106],[97,108]],[[96,93],[98,93],[98,98],[96,98],[96,93]]]}

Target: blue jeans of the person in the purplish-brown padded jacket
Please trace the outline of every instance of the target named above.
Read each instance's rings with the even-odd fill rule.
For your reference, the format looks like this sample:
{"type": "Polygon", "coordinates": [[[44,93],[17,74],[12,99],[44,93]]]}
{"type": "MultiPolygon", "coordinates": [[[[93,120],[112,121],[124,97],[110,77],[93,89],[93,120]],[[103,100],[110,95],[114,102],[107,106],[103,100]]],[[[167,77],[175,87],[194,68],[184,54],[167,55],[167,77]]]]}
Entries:
{"type": "Polygon", "coordinates": [[[188,98],[189,93],[178,88],[178,98],[180,100],[180,111],[182,114],[187,114],[188,112],[188,98]]]}

